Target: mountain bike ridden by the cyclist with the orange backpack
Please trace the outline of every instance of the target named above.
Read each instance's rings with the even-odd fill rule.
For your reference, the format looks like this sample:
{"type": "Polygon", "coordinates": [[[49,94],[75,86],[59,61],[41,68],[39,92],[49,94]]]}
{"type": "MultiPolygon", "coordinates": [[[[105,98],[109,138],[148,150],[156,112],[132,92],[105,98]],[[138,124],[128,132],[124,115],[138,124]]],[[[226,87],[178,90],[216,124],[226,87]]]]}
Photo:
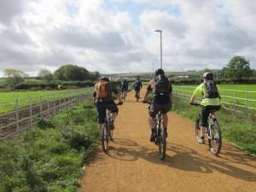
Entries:
{"type": "Polygon", "coordinates": [[[110,111],[106,109],[105,122],[102,125],[102,149],[105,153],[108,151],[108,142],[113,141],[113,130],[111,129],[110,111]]]}

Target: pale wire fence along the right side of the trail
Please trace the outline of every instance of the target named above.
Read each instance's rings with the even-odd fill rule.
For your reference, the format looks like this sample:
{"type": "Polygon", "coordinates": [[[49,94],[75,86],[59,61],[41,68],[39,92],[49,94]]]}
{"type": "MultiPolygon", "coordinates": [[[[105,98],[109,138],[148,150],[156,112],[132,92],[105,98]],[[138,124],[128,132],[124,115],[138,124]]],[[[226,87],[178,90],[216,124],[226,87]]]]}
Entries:
{"type": "MultiPolygon", "coordinates": [[[[189,99],[195,88],[195,86],[173,86],[173,94],[183,99],[189,99]]],[[[224,108],[256,112],[256,91],[220,89],[220,95],[224,108]]]]}

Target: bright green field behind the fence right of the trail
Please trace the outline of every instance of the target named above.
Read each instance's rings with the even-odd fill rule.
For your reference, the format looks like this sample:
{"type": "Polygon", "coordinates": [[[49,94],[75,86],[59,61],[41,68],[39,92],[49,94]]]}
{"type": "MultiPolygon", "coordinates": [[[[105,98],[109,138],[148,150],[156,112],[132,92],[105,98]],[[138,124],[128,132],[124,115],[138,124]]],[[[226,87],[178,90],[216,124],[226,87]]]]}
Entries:
{"type": "MultiPolygon", "coordinates": [[[[222,102],[236,104],[236,107],[241,105],[256,108],[256,84],[219,84],[218,86],[221,89],[222,102]]],[[[195,85],[174,85],[173,89],[189,97],[195,87],[195,85]]]]}

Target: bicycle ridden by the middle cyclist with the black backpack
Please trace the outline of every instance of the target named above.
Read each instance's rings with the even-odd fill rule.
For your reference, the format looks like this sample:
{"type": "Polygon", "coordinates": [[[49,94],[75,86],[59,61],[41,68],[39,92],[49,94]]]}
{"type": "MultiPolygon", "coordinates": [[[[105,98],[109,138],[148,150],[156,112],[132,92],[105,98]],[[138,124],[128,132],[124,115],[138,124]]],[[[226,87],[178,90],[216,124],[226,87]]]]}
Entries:
{"type": "MultiPolygon", "coordinates": [[[[143,103],[150,104],[150,102],[143,102],[143,103]]],[[[154,122],[155,122],[154,132],[156,134],[154,143],[156,145],[158,145],[160,160],[165,160],[165,158],[166,158],[166,132],[165,132],[164,126],[162,124],[162,115],[163,115],[163,112],[160,110],[154,118],[154,122]]]]}

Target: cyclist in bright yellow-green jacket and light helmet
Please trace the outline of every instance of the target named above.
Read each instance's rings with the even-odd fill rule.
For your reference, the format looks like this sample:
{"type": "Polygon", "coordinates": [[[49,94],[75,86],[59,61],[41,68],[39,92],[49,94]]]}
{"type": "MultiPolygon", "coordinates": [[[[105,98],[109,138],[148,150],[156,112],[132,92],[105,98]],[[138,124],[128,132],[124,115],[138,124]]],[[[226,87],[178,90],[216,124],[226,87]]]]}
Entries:
{"type": "Polygon", "coordinates": [[[212,110],[218,111],[220,108],[220,95],[218,85],[213,81],[212,73],[203,74],[204,82],[200,84],[191,96],[190,103],[195,101],[195,97],[201,96],[201,139],[199,143],[205,143],[205,133],[208,126],[208,116],[212,110]]]}

